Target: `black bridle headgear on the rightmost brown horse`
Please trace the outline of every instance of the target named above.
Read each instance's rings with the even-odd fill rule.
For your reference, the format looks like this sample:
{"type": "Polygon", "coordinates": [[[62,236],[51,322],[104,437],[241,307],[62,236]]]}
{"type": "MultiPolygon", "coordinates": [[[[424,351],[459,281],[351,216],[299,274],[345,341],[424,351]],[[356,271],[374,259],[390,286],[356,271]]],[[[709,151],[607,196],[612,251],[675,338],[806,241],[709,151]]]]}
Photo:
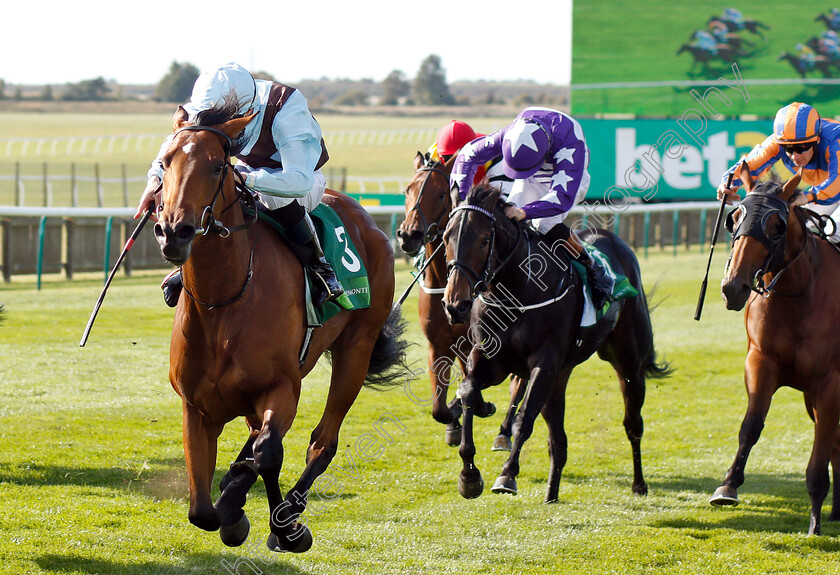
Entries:
{"type": "MultiPolygon", "coordinates": [[[[781,279],[785,272],[787,272],[794,263],[805,253],[808,247],[808,236],[805,233],[805,218],[798,210],[794,211],[797,219],[803,228],[802,245],[797,254],[782,265],[785,256],[785,247],[788,229],[788,214],[790,206],[788,202],[772,194],[747,194],[741,204],[732,210],[726,217],[726,229],[732,234],[732,241],[734,242],[741,237],[751,237],[761,243],[767,250],[767,258],[764,263],[756,270],[753,276],[752,289],[757,294],[764,298],[770,297],[771,294],[786,295],[795,297],[801,294],[782,294],[776,291],[776,284],[781,279]],[[748,209],[749,208],[749,209],[748,209]],[[737,226],[734,221],[735,212],[740,212],[742,217],[737,226]],[[771,216],[778,216],[783,225],[781,233],[775,236],[768,236],[767,223],[771,216]],[[773,269],[780,268],[775,272],[773,279],[766,286],[764,285],[764,275],[771,272],[773,269]]],[[[731,258],[730,258],[731,259],[731,258]]],[[[727,262],[727,267],[729,263],[727,262]]],[[[807,289],[807,285],[806,285],[807,289]]],[[[804,292],[804,290],[803,290],[804,292]]]]}

